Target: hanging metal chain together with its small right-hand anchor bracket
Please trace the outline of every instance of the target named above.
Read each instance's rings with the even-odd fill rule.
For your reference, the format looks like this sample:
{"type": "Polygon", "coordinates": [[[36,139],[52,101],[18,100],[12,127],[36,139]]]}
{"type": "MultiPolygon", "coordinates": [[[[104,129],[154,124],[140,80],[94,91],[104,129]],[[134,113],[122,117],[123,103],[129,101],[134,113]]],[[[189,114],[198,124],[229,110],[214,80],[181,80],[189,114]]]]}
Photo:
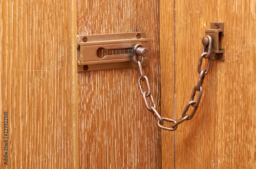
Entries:
{"type": "Polygon", "coordinates": [[[191,97],[190,97],[190,101],[185,106],[182,116],[178,120],[175,120],[172,118],[167,118],[167,117],[161,117],[161,115],[156,110],[156,104],[155,104],[155,101],[151,94],[148,78],[146,76],[144,76],[142,66],[141,66],[141,64],[143,63],[143,54],[141,52],[143,49],[143,45],[137,44],[134,46],[133,60],[134,60],[134,63],[136,65],[138,65],[138,70],[140,73],[140,77],[138,79],[139,90],[143,97],[143,100],[144,100],[147,110],[150,111],[154,115],[154,117],[157,119],[157,125],[161,129],[168,130],[168,131],[174,131],[178,128],[179,124],[183,123],[185,120],[190,120],[191,118],[193,118],[193,116],[195,115],[195,113],[198,109],[198,106],[199,106],[199,103],[200,103],[200,100],[202,97],[202,93],[203,93],[202,86],[203,86],[205,76],[209,73],[211,60],[224,60],[224,49],[220,48],[220,38],[222,35],[224,35],[223,34],[224,23],[223,22],[214,22],[214,23],[211,23],[210,25],[211,25],[211,29],[205,31],[206,36],[203,37],[203,39],[202,39],[203,53],[201,54],[199,62],[198,62],[198,73],[199,73],[198,82],[195,85],[195,87],[193,88],[193,91],[192,91],[191,97]],[[140,60],[137,57],[138,55],[141,56],[140,60]],[[206,69],[205,68],[201,69],[203,59],[208,59],[206,69]],[[146,86],[147,86],[146,91],[143,91],[141,81],[146,82],[146,86]],[[198,95],[197,100],[194,100],[196,92],[199,92],[199,95],[198,95]],[[150,98],[150,103],[147,102],[147,98],[150,98]],[[194,109],[191,112],[191,114],[189,115],[187,112],[188,112],[188,109],[190,108],[190,106],[194,107],[194,109]],[[171,127],[165,127],[165,126],[163,126],[164,121],[170,122],[173,124],[171,127]]]}

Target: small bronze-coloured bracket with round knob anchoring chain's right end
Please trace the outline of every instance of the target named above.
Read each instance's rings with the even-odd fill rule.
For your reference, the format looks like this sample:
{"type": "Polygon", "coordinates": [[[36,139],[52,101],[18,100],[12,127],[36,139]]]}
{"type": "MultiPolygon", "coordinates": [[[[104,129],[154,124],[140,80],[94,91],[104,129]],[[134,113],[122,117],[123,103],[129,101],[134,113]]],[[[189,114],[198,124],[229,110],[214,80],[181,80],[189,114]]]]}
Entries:
{"type": "MultiPolygon", "coordinates": [[[[210,30],[205,30],[205,35],[212,38],[211,60],[224,60],[224,49],[220,47],[221,37],[224,35],[224,22],[211,22],[210,30]]],[[[202,43],[207,46],[209,42],[207,38],[203,37],[202,43]]]]}

